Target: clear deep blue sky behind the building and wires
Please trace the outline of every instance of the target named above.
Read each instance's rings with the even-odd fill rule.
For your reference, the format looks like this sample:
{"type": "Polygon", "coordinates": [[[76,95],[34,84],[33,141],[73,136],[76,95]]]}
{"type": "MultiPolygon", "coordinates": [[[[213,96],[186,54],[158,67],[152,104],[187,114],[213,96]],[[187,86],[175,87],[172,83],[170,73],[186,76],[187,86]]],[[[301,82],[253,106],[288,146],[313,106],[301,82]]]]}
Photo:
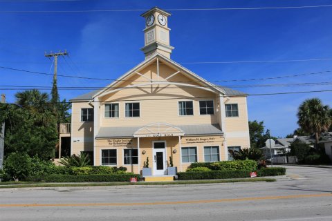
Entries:
{"type": "MultiPolygon", "coordinates": [[[[329,5],[320,0],[260,1],[0,1],[0,66],[50,72],[44,52],[66,49],[58,73],[114,79],[144,60],[142,11],[130,12],[13,12],[55,10],[122,10],[172,8],[256,8],[329,5]],[[6,12],[5,12],[6,11],[6,12]],[[10,12],[8,12],[10,11],[10,12]]],[[[260,81],[220,83],[248,94],[331,90],[330,85],[252,87],[254,84],[298,84],[331,81],[332,59],[226,64],[185,64],[213,61],[270,61],[332,58],[332,7],[274,10],[170,11],[172,59],[208,81],[252,79],[320,73],[260,81]],[[234,86],[246,86],[235,88],[234,86]]],[[[53,73],[53,70],[50,72],[53,73]]],[[[51,86],[52,77],[0,68],[0,85],[51,86]]],[[[58,78],[58,86],[106,86],[109,81],[58,78]]],[[[19,90],[3,90],[14,102],[19,90]]],[[[86,90],[59,90],[71,99],[86,90]]],[[[297,128],[297,107],[319,97],[332,103],[332,93],[248,97],[250,120],[264,121],[272,135],[297,128]]]]}

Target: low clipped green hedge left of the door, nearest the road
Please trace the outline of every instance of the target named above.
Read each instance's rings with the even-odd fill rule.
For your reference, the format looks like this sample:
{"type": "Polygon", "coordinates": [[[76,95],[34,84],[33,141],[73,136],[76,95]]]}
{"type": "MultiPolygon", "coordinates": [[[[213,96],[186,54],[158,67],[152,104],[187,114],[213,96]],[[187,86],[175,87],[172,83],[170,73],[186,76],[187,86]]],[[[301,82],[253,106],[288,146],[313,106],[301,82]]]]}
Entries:
{"type": "Polygon", "coordinates": [[[25,181],[30,182],[129,182],[131,177],[136,177],[138,174],[95,174],[95,175],[66,175],[66,174],[52,174],[52,175],[35,175],[26,177],[25,181]]]}

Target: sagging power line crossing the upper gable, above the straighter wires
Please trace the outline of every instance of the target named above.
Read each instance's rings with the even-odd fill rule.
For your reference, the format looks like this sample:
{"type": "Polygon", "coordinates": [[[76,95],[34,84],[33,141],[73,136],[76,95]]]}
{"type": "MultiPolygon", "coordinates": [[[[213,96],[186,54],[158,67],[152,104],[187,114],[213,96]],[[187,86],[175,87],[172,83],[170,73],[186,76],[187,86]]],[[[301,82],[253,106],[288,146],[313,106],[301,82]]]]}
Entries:
{"type": "MultiPolygon", "coordinates": [[[[18,68],[8,68],[4,66],[0,66],[0,68],[7,70],[16,70],[24,73],[32,73],[37,75],[52,75],[49,73],[42,73],[32,70],[22,70],[18,68]]],[[[212,81],[170,81],[170,82],[178,82],[178,83],[211,83],[211,82],[234,82],[234,81],[260,81],[260,80],[269,80],[269,79],[282,79],[282,78],[291,78],[291,77],[302,77],[308,75],[320,75],[323,73],[331,73],[331,70],[324,70],[317,73],[306,73],[306,74],[298,74],[298,75],[284,75],[279,77],[262,77],[262,78],[252,78],[252,79],[230,79],[230,80],[212,80],[212,81]]],[[[119,80],[119,79],[107,79],[107,78],[96,78],[96,77],[80,77],[73,75],[57,75],[58,77],[70,77],[70,78],[79,78],[79,79],[93,79],[93,80],[104,80],[104,81],[129,81],[129,82],[149,82],[149,81],[136,81],[136,80],[119,80]]]]}

